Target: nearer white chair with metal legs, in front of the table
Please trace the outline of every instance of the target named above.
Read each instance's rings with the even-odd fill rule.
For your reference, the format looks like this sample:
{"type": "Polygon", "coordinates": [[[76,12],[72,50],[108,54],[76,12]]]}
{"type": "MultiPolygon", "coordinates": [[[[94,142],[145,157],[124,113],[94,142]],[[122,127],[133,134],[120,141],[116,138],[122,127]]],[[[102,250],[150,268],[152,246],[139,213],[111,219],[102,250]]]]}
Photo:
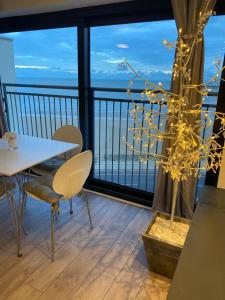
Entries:
{"type": "Polygon", "coordinates": [[[52,261],[54,261],[55,254],[54,217],[59,211],[59,201],[69,200],[81,194],[87,207],[90,227],[91,229],[93,228],[88,198],[83,190],[83,185],[90,173],[91,165],[92,152],[87,150],[67,160],[57,170],[55,175],[41,176],[23,185],[26,195],[48,202],[51,205],[52,261]]]}

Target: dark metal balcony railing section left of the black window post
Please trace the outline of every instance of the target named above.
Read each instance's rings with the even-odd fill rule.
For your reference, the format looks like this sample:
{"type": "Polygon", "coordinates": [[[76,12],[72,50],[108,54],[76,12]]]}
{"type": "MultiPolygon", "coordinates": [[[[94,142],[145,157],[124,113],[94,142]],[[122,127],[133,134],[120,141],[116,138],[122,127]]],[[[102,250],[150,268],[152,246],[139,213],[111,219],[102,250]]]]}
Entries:
{"type": "Polygon", "coordinates": [[[79,124],[78,89],[73,86],[3,84],[10,129],[51,138],[65,124],[79,124]]]}

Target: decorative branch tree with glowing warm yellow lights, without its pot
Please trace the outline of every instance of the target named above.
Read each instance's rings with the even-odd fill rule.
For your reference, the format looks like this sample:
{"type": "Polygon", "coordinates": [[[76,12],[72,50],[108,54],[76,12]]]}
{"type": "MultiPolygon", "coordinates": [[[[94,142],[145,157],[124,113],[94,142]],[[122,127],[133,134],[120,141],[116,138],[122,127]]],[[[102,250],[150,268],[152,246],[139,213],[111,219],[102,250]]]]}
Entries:
{"type": "Polygon", "coordinates": [[[136,101],[130,90],[128,95],[133,102],[131,114],[134,118],[134,128],[129,128],[130,137],[135,146],[127,141],[134,153],[139,154],[140,160],[146,162],[153,160],[156,166],[161,166],[164,172],[169,173],[173,180],[173,197],[171,209],[171,228],[174,220],[178,183],[187,180],[189,176],[198,177],[202,170],[216,170],[221,165],[223,145],[217,142],[218,137],[225,136],[225,114],[211,112],[203,109],[202,103],[192,105],[189,95],[192,91],[202,96],[203,100],[208,96],[207,85],[215,82],[222,73],[219,60],[214,62],[216,74],[209,81],[201,84],[193,84],[191,70],[188,63],[193,55],[196,44],[201,42],[206,20],[214,14],[212,11],[200,13],[197,31],[190,43],[185,43],[182,37],[182,29],[179,30],[178,41],[173,44],[164,40],[163,43],[169,49],[176,51],[176,61],[173,66],[173,80],[179,78],[180,90],[174,94],[166,90],[162,83],[155,84],[143,78],[126,61],[128,68],[134,73],[134,80],[144,81],[145,90],[141,94],[141,100],[148,100],[149,105],[143,106],[136,101]],[[154,110],[155,105],[160,105],[161,110],[154,110]],[[161,119],[159,125],[155,120],[161,119]],[[202,132],[212,126],[213,120],[220,122],[220,131],[210,136],[202,137],[202,132]],[[142,151],[140,146],[142,145],[142,151]],[[169,145],[166,155],[154,151],[157,143],[169,145]],[[201,164],[200,164],[201,162],[201,164]]]}

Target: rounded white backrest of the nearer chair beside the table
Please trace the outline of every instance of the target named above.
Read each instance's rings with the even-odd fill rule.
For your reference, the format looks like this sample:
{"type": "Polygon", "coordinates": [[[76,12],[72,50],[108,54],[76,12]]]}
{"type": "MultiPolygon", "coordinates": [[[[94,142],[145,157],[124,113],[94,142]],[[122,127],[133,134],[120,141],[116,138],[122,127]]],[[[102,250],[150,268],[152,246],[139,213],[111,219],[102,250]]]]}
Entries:
{"type": "Polygon", "coordinates": [[[53,179],[53,189],[64,195],[64,199],[79,194],[90,173],[92,152],[87,150],[66,161],[56,172],[53,179]]]}

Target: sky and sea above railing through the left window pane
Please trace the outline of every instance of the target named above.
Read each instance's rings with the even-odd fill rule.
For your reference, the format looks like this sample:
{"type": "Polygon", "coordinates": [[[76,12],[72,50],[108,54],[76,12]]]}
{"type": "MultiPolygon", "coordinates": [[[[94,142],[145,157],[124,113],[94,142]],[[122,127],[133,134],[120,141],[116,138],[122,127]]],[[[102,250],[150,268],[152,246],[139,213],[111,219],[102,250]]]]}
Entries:
{"type": "Polygon", "coordinates": [[[16,83],[77,85],[76,28],[14,32],[2,36],[12,39],[16,83]]]}

